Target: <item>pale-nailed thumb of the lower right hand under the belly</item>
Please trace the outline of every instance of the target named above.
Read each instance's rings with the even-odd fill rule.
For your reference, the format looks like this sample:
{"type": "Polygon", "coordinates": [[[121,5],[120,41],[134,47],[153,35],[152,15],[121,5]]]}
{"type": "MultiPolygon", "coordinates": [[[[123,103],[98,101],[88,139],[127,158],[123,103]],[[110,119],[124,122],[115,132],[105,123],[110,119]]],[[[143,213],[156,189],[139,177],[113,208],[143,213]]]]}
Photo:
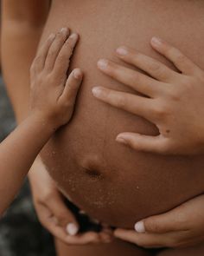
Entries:
{"type": "Polygon", "coordinates": [[[182,215],[175,211],[152,216],[135,224],[137,233],[169,233],[182,229],[182,215]]]}

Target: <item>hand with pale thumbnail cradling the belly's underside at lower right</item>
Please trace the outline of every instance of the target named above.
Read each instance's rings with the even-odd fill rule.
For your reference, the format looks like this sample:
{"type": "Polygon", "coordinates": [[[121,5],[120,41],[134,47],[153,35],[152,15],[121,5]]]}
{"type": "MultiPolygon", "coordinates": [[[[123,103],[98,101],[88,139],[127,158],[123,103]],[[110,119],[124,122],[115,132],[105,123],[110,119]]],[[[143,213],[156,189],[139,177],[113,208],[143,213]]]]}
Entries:
{"type": "Polygon", "coordinates": [[[186,247],[204,241],[204,195],[169,213],[138,222],[136,231],[117,229],[115,236],[143,247],[186,247]]]}

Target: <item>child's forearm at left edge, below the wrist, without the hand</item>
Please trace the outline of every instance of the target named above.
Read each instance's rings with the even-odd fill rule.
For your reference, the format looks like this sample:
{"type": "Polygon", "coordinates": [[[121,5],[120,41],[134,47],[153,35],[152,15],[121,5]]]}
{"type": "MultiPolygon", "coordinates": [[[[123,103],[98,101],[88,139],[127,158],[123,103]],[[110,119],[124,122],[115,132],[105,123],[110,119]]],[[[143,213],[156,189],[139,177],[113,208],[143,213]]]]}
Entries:
{"type": "Polygon", "coordinates": [[[0,215],[22,186],[29,168],[53,133],[39,115],[30,115],[0,144],[0,215]],[[15,181],[15,182],[14,182],[15,181]]]}

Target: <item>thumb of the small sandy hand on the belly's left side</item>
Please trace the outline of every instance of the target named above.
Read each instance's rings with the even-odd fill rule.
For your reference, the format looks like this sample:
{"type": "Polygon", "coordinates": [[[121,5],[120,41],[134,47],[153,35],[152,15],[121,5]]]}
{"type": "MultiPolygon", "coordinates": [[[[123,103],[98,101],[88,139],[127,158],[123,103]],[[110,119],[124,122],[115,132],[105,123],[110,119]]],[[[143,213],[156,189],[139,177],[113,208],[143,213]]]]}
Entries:
{"type": "Polygon", "coordinates": [[[73,72],[67,78],[65,89],[60,97],[60,101],[69,102],[70,106],[73,106],[76,100],[76,96],[80,89],[83,74],[80,69],[74,69],[73,72]]]}

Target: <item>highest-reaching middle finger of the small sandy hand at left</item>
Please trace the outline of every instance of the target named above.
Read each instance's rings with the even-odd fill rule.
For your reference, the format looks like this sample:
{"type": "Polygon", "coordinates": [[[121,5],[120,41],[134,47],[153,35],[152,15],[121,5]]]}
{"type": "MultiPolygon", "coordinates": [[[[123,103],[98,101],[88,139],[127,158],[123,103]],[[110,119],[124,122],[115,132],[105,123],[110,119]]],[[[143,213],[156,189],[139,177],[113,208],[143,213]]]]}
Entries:
{"type": "Polygon", "coordinates": [[[69,30],[67,28],[61,29],[59,33],[56,34],[54,42],[50,46],[48,50],[48,56],[45,61],[45,69],[51,71],[54,68],[54,63],[56,61],[56,57],[59,55],[61,51],[61,47],[67,40],[67,36],[69,35],[69,30]]]}

